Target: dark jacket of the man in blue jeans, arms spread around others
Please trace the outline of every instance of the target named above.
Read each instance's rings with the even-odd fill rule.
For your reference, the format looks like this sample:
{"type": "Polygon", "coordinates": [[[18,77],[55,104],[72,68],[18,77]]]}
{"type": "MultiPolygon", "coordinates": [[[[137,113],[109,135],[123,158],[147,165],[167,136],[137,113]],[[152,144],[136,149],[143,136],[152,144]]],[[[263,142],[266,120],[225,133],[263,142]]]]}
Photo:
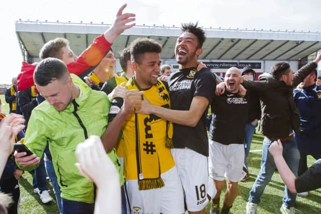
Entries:
{"type": "MultiPolygon", "coordinates": [[[[312,62],[293,75],[293,87],[296,87],[304,78],[317,67],[312,62]]],[[[293,100],[293,87],[271,75],[263,75],[260,81],[244,81],[245,88],[253,90],[261,100],[260,132],[269,138],[285,138],[293,129],[299,133],[299,111],[293,100]]]]}

